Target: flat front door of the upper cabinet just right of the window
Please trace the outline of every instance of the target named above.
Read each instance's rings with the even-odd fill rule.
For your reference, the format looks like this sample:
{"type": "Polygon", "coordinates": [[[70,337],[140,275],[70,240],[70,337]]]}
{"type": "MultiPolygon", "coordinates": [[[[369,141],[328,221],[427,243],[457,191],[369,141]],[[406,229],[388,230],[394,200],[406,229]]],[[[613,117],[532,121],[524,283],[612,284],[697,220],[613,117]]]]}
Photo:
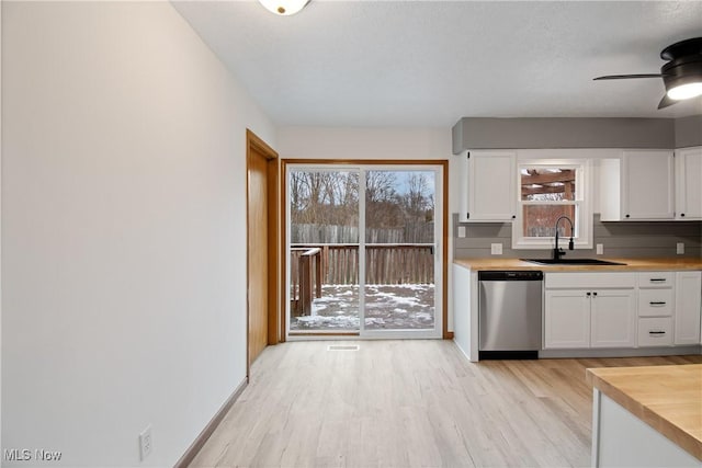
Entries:
{"type": "Polygon", "coordinates": [[[622,156],[624,219],[672,219],[672,151],[624,151],[622,156]]]}

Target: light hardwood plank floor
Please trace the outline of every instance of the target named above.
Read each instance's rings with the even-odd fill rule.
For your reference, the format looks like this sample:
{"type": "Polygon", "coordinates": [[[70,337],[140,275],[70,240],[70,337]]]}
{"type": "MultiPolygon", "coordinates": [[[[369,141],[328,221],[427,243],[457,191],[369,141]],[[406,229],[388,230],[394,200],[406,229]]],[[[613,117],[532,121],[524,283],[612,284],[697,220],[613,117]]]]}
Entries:
{"type": "Polygon", "coordinates": [[[689,363],[702,356],[469,363],[451,341],[284,343],[191,467],[589,466],[585,369],[689,363]]]}

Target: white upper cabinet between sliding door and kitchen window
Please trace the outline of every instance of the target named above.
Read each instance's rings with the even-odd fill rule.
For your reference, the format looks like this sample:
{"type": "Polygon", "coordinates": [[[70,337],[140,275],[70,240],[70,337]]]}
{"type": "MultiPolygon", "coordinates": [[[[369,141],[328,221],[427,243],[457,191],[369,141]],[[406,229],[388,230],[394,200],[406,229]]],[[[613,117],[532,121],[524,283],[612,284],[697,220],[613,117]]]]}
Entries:
{"type": "Polygon", "coordinates": [[[511,221],[517,209],[517,152],[462,153],[461,221],[511,221]]]}

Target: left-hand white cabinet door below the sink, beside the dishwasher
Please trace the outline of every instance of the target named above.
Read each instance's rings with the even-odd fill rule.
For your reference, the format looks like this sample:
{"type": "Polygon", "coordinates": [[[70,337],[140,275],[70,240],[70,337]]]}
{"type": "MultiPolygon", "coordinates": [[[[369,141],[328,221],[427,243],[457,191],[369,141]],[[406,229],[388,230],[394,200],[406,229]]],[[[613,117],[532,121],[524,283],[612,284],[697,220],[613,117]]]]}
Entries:
{"type": "Polygon", "coordinates": [[[584,289],[546,290],[544,347],[590,347],[590,298],[584,289]]]}

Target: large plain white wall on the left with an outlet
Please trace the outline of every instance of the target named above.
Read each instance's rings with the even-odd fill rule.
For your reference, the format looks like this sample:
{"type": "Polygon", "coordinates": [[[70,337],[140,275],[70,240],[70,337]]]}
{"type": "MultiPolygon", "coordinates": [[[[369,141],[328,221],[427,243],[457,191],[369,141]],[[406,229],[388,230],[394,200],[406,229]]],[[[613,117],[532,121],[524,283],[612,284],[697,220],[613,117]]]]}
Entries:
{"type": "Polygon", "coordinates": [[[172,466],[245,379],[273,126],[167,2],[2,9],[2,447],[172,466]]]}

